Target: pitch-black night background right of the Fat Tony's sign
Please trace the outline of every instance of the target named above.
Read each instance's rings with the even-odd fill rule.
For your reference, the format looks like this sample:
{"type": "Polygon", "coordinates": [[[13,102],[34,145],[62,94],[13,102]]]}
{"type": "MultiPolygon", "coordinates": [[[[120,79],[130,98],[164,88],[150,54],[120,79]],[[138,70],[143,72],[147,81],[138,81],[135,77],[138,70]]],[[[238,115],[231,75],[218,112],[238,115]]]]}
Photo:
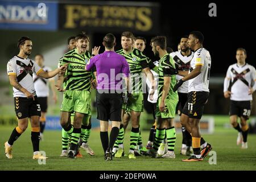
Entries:
{"type": "MultiPolygon", "coordinates": [[[[156,2],[156,1],[148,1],[156,2]]],[[[236,49],[247,51],[247,63],[255,66],[255,6],[247,1],[157,1],[160,5],[159,34],[167,37],[167,46],[177,51],[180,36],[197,30],[204,34],[203,46],[212,57],[211,76],[225,76],[230,64],[236,63],[236,49]],[[217,5],[217,17],[210,17],[209,3],[217,5]]],[[[102,45],[104,34],[94,33],[94,44],[102,45]]],[[[121,32],[114,34],[117,47],[121,48],[121,32]]],[[[156,35],[141,35],[147,40],[144,54],[154,57],[149,45],[156,35]]],[[[102,48],[101,51],[104,51],[102,48]]]]}

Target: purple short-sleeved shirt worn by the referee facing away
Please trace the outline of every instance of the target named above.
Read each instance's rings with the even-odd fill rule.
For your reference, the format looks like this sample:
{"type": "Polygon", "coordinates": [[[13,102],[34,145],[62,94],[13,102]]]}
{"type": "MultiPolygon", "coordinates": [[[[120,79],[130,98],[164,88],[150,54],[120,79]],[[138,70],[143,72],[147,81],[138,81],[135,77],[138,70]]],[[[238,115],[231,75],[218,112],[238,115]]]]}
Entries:
{"type": "Polygon", "coordinates": [[[86,64],[86,70],[90,71],[94,66],[97,70],[97,90],[121,90],[122,77],[128,77],[130,73],[125,57],[114,51],[92,57],[86,64]]]}

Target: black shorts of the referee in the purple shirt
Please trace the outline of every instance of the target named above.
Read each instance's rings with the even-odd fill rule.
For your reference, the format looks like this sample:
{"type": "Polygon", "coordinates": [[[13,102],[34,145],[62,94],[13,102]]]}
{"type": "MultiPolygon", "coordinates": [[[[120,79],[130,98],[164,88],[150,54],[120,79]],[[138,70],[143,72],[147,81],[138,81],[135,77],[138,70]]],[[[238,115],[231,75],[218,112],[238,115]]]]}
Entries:
{"type": "Polygon", "coordinates": [[[122,93],[103,92],[97,90],[96,92],[97,103],[97,119],[102,121],[122,121],[122,93]]]}

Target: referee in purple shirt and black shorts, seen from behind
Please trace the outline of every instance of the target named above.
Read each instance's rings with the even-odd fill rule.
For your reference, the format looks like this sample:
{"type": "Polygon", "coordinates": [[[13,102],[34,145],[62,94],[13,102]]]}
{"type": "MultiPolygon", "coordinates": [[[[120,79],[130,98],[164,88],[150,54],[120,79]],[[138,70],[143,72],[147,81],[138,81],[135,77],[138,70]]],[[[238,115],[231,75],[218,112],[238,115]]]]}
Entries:
{"type": "Polygon", "coordinates": [[[86,70],[93,67],[97,70],[97,119],[100,120],[101,143],[105,160],[112,160],[112,148],[119,133],[122,108],[122,77],[128,88],[129,65],[125,57],[115,53],[115,36],[106,34],[103,39],[105,52],[94,56],[86,65],[86,70]],[[109,121],[112,121],[110,138],[108,136],[109,121]]]}

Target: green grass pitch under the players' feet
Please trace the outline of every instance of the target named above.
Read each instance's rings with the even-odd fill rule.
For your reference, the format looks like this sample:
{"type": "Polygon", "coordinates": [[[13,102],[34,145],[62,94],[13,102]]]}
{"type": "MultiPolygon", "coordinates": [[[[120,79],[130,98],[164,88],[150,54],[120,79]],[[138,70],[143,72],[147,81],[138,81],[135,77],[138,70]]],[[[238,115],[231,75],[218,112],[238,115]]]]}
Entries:
{"type": "MultiPolygon", "coordinates": [[[[9,138],[14,126],[0,126],[0,171],[2,170],[118,170],[118,171],[154,171],[154,170],[255,170],[256,169],[256,135],[248,136],[247,150],[242,150],[236,145],[237,132],[232,128],[224,129],[216,127],[214,134],[203,135],[205,140],[213,146],[216,152],[217,164],[209,164],[208,156],[203,162],[185,163],[181,159],[186,156],[180,155],[181,134],[177,134],[175,154],[176,159],[152,159],[147,156],[128,159],[114,159],[105,162],[100,141],[100,132],[92,130],[89,138],[90,147],[96,153],[89,156],[81,149],[83,158],[61,158],[61,131],[45,131],[44,141],[40,142],[40,150],[46,151],[49,159],[45,165],[39,165],[37,160],[32,160],[32,144],[30,129],[16,140],[13,146],[13,159],[7,159],[3,144],[9,138]]],[[[143,144],[148,139],[148,131],[142,131],[143,144]]],[[[129,150],[129,135],[125,135],[125,152],[129,150]]]]}

